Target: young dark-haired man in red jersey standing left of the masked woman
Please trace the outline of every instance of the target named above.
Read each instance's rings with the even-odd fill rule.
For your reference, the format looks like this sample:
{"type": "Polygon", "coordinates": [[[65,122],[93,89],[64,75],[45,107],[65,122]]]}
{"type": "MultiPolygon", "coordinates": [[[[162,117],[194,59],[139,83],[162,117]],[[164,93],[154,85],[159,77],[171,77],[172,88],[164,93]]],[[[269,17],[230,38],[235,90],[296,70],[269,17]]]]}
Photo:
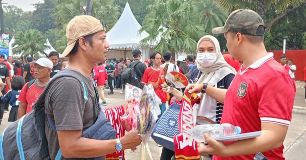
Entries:
{"type": "MultiPolygon", "coordinates": [[[[163,68],[160,67],[160,62],[162,61],[162,55],[159,52],[153,52],[150,54],[151,62],[153,66],[144,70],[144,75],[142,76],[141,83],[143,84],[152,84],[156,95],[162,100],[162,105],[159,106],[161,110],[161,115],[166,110],[166,95],[161,89],[162,80],[165,75],[163,68]]],[[[159,115],[159,116],[161,116],[159,115]]]]}

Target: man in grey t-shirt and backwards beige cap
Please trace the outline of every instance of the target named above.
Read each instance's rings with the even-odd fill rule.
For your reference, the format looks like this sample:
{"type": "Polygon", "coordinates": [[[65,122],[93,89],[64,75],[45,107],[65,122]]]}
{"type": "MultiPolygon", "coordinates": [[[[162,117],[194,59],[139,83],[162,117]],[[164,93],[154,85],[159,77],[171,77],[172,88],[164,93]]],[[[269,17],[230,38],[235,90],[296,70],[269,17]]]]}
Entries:
{"type": "Polygon", "coordinates": [[[59,148],[61,159],[76,159],[100,157],[138,146],[141,142],[138,131],[130,131],[116,140],[81,137],[82,132],[94,123],[93,109],[98,104],[90,71],[96,63],[105,61],[109,44],[103,25],[92,16],[74,17],[67,25],[66,36],[68,46],[62,53],[62,57],[69,56],[66,69],[82,77],[88,101],[84,100],[83,86],[72,77],[61,77],[51,84],[45,97],[45,111],[57,131],[46,120],[50,158],[55,159],[59,148]]]}

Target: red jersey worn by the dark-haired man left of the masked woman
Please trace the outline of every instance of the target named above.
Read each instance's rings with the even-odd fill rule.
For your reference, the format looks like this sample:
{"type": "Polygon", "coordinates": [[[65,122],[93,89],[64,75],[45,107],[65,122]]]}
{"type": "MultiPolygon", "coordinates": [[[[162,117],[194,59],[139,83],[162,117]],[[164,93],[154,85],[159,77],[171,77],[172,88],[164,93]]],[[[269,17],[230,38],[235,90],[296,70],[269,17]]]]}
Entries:
{"type": "MultiPolygon", "coordinates": [[[[160,67],[159,69],[154,69],[153,66],[151,66],[147,68],[146,70],[144,70],[144,75],[142,76],[141,83],[148,84],[148,82],[157,82],[161,69],[162,67],[160,67]]],[[[164,75],[164,72],[162,71],[162,74],[159,78],[159,85],[157,89],[155,90],[155,93],[162,100],[162,103],[166,102],[166,95],[164,91],[162,91],[162,89],[159,89],[159,88],[162,87],[161,85],[162,85],[162,80],[164,79],[164,77],[165,75],[164,75]]]]}

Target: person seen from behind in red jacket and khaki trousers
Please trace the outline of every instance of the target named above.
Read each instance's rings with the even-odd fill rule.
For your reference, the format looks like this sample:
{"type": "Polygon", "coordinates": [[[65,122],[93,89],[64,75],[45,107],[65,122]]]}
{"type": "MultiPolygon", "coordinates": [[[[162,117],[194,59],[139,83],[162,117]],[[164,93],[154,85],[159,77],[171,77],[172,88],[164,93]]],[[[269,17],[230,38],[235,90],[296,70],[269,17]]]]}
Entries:
{"type": "Polygon", "coordinates": [[[101,99],[101,105],[106,105],[106,100],[104,98],[104,84],[107,80],[107,73],[105,67],[103,67],[103,62],[98,63],[99,66],[95,68],[94,80],[97,81],[97,88],[99,92],[99,98],[101,99]]]}

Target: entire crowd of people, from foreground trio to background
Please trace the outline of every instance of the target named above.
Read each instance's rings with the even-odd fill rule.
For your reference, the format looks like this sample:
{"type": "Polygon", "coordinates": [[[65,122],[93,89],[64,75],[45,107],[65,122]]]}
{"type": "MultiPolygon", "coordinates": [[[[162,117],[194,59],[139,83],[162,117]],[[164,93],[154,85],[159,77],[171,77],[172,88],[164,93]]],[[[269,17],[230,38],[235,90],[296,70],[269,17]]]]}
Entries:
{"type": "MultiPolygon", "coordinates": [[[[58,62],[57,52],[37,60],[27,57],[24,62],[14,62],[11,57],[6,62],[4,56],[0,56],[3,82],[0,83],[0,118],[3,111],[7,111],[8,103],[12,108],[16,107],[11,109],[9,121],[30,112],[52,77],[57,77],[56,74],[66,67],[67,72],[80,76],[82,84],[68,76],[57,77],[49,84],[44,106],[48,117],[45,130],[50,158],[55,159],[59,149],[61,159],[120,152],[141,143],[138,131],[127,132],[115,140],[82,137],[83,131],[95,123],[95,107],[107,104],[104,88],[110,88],[108,94],[114,94],[114,88],[123,93],[121,76],[125,69],[133,68],[140,87],[151,84],[161,99],[162,116],[167,101],[176,99],[173,103],[179,104],[183,99],[184,92],[165,83],[166,73],[177,71],[188,78],[190,83],[185,88],[188,93],[197,93],[201,98],[197,116],[207,117],[208,121],[197,119],[197,124],[212,121],[240,126],[242,133],[262,131],[259,137],[224,144],[206,134],[208,144],[198,143],[196,155],[213,155],[215,160],[253,159],[257,152],[263,152],[268,159],[284,159],[283,141],[293,110],[296,67],[292,65],[293,60],[287,65],[284,56],[280,65],[273,59],[273,54],[266,51],[263,43],[265,28],[256,12],[239,9],[230,14],[224,27],[212,31],[224,34],[230,55],[222,55],[218,39],[207,35],[198,41],[196,55],[174,59],[170,51],[154,51],[149,59],[140,62],[143,53],[139,49],[132,51],[133,59],[106,59],[109,44],[103,25],[92,16],[76,16],[67,25],[68,46],[62,53],[62,57],[69,57],[69,60],[58,62]],[[95,99],[97,94],[99,101],[95,99]],[[56,130],[52,129],[53,123],[56,130]]],[[[129,102],[131,100],[121,107],[125,110],[129,102]]],[[[113,119],[109,120],[113,122],[113,119]]],[[[174,151],[163,148],[160,159],[170,160],[174,155],[174,151]]],[[[118,158],[122,159],[122,156],[124,154],[118,158]]]]}

